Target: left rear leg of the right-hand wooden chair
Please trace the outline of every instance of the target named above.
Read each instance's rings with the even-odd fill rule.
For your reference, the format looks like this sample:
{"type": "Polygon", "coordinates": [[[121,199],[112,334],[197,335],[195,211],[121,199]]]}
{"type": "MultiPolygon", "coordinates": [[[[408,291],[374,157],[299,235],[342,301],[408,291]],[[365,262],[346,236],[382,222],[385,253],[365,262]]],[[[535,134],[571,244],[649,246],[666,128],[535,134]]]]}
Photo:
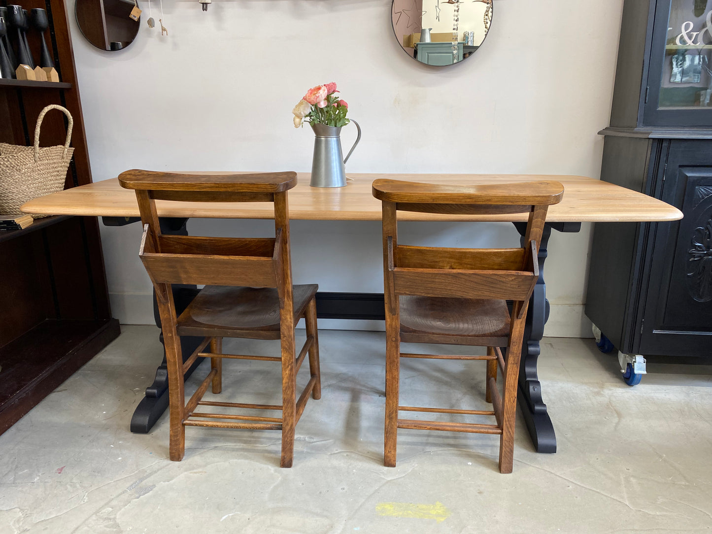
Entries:
{"type": "MultiPolygon", "coordinates": [[[[396,317],[397,320],[397,317],[396,317]]],[[[386,317],[386,419],[384,428],[383,465],[396,466],[396,446],[398,437],[398,394],[400,374],[400,333],[399,325],[389,325],[386,317]]]]}

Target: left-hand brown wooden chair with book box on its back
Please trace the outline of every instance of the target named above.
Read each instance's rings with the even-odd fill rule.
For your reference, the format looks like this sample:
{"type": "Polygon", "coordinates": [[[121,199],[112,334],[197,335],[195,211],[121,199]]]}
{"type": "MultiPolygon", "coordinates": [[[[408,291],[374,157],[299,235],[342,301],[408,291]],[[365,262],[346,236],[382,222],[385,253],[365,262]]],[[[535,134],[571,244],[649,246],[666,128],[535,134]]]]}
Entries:
{"type": "Polygon", "coordinates": [[[166,347],[170,405],[170,459],[183,458],[185,426],[282,431],[281,466],[293,459],[294,431],[309,394],[321,397],[315,293],[318,286],[292,286],[287,191],[297,183],[294,172],[266,174],[171,174],[130,170],[119,177],[135,189],[144,232],[140,257],[156,290],[166,347]],[[156,200],[184,202],[273,202],[275,237],[259,239],[163,235],[156,200]],[[172,283],[206,284],[176,317],[172,283]],[[307,340],[295,353],[294,328],[305,318],[307,340]],[[203,336],[187,360],[179,336],[203,336]],[[223,337],[281,340],[281,357],[228,355],[223,337]],[[203,352],[210,345],[210,352],[203,352]],[[310,379],[295,400],[295,377],[309,354],[310,379]],[[199,357],[211,358],[211,370],[187,404],[184,372],[199,357]],[[282,404],[206,402],[212,384],[221,392],[222,358],[267,360],[282,364],[282,404]],[[196,412],[197,407],[278,410],[281,417],[196,412]],[[221,421],[220,419],[226,419],[221,421]]]}

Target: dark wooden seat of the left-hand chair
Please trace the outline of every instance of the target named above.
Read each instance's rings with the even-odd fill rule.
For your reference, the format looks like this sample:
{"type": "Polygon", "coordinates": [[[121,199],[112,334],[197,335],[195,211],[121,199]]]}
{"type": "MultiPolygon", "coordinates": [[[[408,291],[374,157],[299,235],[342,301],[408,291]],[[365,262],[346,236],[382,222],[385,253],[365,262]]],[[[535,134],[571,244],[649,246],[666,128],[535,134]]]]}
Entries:
{"type": "MultiPolygon", "coordinates": [[[[294,320],[304,314],[319,286],[294,286],[294,320]]],[[[178,318],[178,335],[278,340],[276,288],[206,286],[178,318]]]]}

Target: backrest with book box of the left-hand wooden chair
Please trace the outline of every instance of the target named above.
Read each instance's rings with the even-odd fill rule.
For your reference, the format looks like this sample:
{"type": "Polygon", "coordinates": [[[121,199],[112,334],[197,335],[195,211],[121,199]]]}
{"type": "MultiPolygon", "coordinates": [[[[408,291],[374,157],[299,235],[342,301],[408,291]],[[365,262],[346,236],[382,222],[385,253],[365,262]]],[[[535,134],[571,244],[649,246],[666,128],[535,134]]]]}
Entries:
{"type": "Polygon", "coordinates": [[[291,305],[292,276],[287,191],[295,172],[175,174],[130,170],[119,183],[135,189],[144,233],[140,257],[152,282],[277,288],[291,305]],[[275,237],[219,238],[161,233],[157,200],[273,202],[275,237]]]}

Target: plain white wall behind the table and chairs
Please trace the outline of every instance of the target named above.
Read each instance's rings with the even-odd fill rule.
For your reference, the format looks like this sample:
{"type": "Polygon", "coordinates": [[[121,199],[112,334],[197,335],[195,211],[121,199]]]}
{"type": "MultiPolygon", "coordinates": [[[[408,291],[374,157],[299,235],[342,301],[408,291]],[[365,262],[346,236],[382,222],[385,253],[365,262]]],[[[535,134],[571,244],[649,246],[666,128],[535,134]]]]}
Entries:
{"type": "MultiPolygon", "coordinates": [[[[72,27],[95,181],[135,167],[308,171],[313,134],[294,129],[290,110],[306,89],[333,80],[363,128],[347,172],[600,175],[597,131],[608,123],[622,0],[496,0],[482,48],[442,69],[403,53],[387,0],[214,0],[207,13],[197,1],[166,0],[167,37],[147,27],[141,7],[140,34],[124,51],[99,51],[72,27]]],[[[189,223],[193,234],[267,229],[189,223]]],[[[402,231],[429,242],[518,242],[507,224],[402,231]]],[[[151,322],[139,226],[102,235],[115,317],[151,322]]],[[[379,224],[295,221],[292,236],[296,282],[382,290],[379,224]]],[[[548,335],[590,335],[589,249],[589,225],[552,236],[548,335]]]]}

